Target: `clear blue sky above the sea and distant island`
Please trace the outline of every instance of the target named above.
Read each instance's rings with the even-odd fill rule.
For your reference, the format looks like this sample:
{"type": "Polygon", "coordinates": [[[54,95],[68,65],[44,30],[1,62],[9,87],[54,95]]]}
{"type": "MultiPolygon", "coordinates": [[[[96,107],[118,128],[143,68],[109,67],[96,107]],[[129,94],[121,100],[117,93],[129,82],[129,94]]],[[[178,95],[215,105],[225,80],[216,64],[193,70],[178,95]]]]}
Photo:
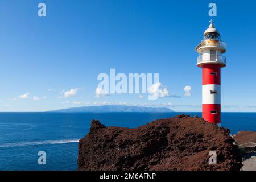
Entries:
{"type": "Polygon", "coordinates": [[[256,2],[135,0],[1,0],[0,111],[102,104],[201,111],[195,46],[209,26],[210,2],[217,4],[213,19],[227,43],[222,111],[256,111],[256,2]],[[40,2],[46,3],[46,17],[38,16],[40,2]],[[97,98],[97,76],[110,68],[126,75],[159,73],[169,94],[180,97],[97,98]],[[184,96],[188,85],[191,96],[184,96]]]}

